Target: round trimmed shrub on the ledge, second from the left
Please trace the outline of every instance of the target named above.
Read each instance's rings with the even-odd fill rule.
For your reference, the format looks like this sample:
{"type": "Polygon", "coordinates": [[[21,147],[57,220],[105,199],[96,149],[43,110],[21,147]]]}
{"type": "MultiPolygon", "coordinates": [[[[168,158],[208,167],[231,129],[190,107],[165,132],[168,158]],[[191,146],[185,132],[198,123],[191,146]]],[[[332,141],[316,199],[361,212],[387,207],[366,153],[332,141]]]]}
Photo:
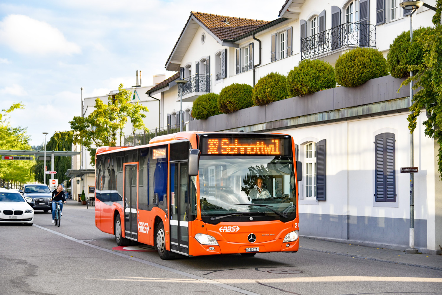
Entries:
{"type": "Polygon", "coordinates": [[[223,88],[218,96],[219,110],[224,114],[251,107],[252,87],[248,84],[233,83],[223,88]]]}

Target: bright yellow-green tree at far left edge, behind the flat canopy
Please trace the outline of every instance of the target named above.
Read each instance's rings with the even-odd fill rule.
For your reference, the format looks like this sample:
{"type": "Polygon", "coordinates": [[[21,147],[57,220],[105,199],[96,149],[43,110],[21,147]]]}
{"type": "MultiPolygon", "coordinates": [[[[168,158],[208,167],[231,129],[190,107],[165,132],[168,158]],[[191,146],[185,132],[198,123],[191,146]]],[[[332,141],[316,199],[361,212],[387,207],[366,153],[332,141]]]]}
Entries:
{"type": "MultiPolygon", "coordinates": [[[[30,149],[26,128],[12,127],[9,119],[12,111],[23,109],[24,105],[14,103],[0,112],[0,149],[30,149]]],[[[0,160],[0,179],[15,184],[24,184],[34,179],[31,168],[35,161],[0,160]]]]}

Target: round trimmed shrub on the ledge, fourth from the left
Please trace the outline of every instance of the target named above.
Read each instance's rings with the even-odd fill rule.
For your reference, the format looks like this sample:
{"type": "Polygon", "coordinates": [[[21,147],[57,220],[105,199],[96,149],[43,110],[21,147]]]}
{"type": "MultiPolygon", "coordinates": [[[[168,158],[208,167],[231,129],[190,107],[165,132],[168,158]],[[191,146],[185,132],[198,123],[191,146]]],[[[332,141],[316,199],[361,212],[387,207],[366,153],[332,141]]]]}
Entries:
{"type": "Polygon", "coordinates": [[[335,71],[326,61],[305,59],[289,72],[286,85],[289,97],[334,88],[335,71]]]}

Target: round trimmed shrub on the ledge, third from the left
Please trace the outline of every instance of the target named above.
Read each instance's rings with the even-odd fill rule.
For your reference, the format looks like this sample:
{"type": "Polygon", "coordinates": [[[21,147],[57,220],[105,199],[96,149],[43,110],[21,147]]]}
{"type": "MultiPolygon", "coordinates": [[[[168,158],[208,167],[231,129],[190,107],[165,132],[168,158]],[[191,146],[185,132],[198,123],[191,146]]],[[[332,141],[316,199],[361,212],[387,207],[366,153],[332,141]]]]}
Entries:
{"type": "Polygon", "coordinates": [[[286,86],[286,76],[270,73],[258,80],[252,92],[253,103],[257,106],[285,100],[289,97],[286,86]]]}

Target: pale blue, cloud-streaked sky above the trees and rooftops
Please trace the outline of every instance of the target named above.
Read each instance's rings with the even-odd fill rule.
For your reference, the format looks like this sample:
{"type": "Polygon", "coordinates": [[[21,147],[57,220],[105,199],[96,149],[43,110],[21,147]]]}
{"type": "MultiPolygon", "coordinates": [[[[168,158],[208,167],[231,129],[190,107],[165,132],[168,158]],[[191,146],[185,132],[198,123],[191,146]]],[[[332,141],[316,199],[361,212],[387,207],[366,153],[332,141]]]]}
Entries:
{"type": "Polygon", "coordinates": [[[0,110],[22,102],[11,125],[27,128],[30,144],[42,132],[70,130],[84,97],[118,85],[142,84],[166,73],[167,61],[191,11],[274,20],[284,0],[2,0],[0,110]]]}

